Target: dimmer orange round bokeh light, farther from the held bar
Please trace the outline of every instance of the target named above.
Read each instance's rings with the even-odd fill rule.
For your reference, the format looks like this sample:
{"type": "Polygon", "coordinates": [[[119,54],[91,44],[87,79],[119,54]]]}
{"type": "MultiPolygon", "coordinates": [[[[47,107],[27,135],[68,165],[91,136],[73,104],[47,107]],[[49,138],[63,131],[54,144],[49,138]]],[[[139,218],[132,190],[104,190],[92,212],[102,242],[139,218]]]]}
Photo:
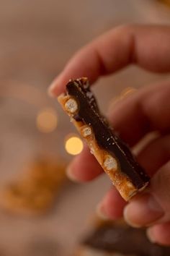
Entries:
{"type": "Polygon", "coordinates": [[[58,118],[53,108],[45,108],[37,114],[37,129],[40,132],[53,132],[58,124],[58,118]]]}

